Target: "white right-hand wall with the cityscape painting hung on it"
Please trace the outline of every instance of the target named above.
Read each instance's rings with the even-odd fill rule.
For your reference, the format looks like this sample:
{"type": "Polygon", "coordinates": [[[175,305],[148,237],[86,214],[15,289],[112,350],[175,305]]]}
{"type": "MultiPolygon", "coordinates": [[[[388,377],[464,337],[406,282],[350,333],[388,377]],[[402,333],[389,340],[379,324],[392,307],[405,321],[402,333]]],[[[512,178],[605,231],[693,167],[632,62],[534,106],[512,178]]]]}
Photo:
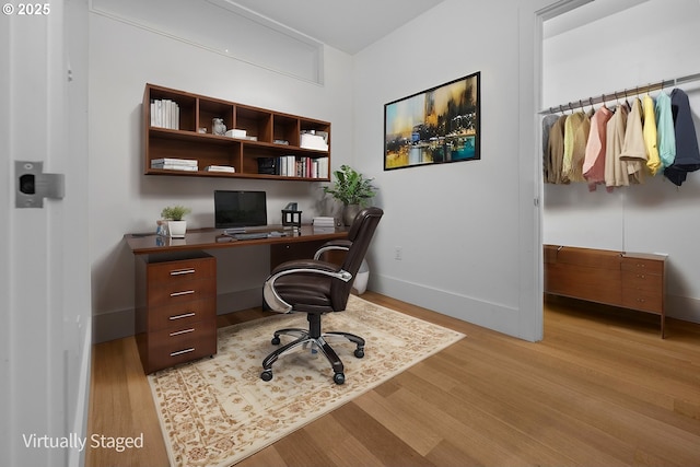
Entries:
{"type": "Polygon", "coordinates": [[[354,70],[355,164],[385,209],[370,288],[528,339],[541,332],[541,296],[524,300],[540,270],[528,142],[536,3],[552,2],[444,1],[358,54],[354,70]],[[384,104],[475,71],[481,160],[384,172],[384,104]]]}

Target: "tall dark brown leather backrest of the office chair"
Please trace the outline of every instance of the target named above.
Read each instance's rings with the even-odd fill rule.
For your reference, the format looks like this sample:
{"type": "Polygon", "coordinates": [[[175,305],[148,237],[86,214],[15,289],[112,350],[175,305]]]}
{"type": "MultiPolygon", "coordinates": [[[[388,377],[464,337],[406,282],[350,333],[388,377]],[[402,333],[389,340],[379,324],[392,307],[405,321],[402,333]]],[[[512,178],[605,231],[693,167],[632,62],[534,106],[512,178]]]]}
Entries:
{"type": "Polygon", "coordinates": [[[342,261],[342,269],[350,272],[352,279],[349,282],[343,282],[340,279],[332,281],[330,301],[336,311],[345,310],[348,304],[352,283],[370,248],[370,242],[382,215],[384,215],[384,211],[380,208],[365,208],[358,212],[354,221],[352,221],[352,225],[348,232],[348,240],[352,242],[352,245],[350,245],[350,249],[348,249],[346,258],[342,261]]]}

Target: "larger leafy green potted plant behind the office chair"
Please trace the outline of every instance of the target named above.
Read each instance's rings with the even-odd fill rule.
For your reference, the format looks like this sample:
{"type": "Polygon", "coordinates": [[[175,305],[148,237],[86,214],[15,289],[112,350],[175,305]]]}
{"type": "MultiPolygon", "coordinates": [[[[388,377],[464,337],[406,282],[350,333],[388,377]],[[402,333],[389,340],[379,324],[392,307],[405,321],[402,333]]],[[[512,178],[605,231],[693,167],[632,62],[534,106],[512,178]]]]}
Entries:
{"type": "Polygon", "coordinates": [[[324,192],[342,202],[342,220],[346,225],[352,224],[360,209],[368,205],[376,195],[376,187],[372,185],[374,178],[364,178],[349,165],[341,165],[334,171],[334,185],[325,186],[324,192]]]}

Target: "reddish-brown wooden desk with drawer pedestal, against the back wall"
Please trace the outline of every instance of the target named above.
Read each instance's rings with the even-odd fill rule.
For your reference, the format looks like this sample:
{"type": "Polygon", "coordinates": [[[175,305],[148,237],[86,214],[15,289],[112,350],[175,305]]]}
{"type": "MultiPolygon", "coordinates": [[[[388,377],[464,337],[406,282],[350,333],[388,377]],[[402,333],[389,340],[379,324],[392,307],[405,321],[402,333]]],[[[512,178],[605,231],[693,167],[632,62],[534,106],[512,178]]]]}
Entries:
{"type": "Polygon", "coordinates": [[[206,250],[269,245],[272,268],[312,258],[324,243],[347,235],[346,229],[319,232],[311,225],[288,236],[255,240],[234,240],[217,229],[187,231],[185,238],[125,235],[136,256],[136,339],[143,371],[217,353],[217,262],[206,250]]]}

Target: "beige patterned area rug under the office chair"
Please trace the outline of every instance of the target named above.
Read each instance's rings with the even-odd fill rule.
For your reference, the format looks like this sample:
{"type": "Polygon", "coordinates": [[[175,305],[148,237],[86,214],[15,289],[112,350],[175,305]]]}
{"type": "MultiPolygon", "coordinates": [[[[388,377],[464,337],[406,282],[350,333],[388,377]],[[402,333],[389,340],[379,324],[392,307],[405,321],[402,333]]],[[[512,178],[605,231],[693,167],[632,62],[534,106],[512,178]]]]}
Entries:
{"type": "Polygon", "coordinates": [[[323,317],[324,330],[366,340],[363,359],[345,339],[328,340],[345,364],[345,384],[336,385],[328,361],[308,349],[280,358],[264,382],[262,359],[284,327],[306,328],[306,315],[221,328],[213,359],[149,376],[171,465],[233,465],[464,337],[352,295],[346,312],[323,317]]]}

